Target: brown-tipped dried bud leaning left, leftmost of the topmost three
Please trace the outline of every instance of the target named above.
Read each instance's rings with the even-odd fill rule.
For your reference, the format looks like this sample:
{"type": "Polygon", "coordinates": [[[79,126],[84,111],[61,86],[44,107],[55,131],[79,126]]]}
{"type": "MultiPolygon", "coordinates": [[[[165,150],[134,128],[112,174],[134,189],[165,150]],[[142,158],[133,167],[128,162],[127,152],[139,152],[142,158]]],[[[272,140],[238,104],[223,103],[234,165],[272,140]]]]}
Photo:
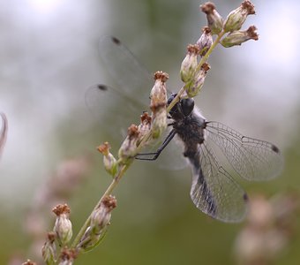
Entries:
{"type": "Polygon", "coordinates": [[[215,10],[215,5],[211,2],[206,2],[200,5],[200,9],[206,13],[207,25],[212,30],[212,34],[220,34],[223,28],[223,19],[218,11],[215,10]]]}

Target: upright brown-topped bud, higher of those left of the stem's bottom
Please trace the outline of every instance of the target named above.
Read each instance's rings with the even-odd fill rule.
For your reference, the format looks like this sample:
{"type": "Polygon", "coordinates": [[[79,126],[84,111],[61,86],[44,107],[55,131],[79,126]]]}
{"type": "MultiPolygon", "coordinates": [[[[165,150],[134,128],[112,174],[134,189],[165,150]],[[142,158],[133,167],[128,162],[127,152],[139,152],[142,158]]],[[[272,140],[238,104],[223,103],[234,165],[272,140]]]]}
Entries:
{"type": "Polygon", "coordinates": [[[53,230],[56,232],[57,239],[64,246],[72,236],[71,221],[69,219],[70,208],[67,204],[59,204],[52,211],[56,214],[56,223],[53,230]]]}

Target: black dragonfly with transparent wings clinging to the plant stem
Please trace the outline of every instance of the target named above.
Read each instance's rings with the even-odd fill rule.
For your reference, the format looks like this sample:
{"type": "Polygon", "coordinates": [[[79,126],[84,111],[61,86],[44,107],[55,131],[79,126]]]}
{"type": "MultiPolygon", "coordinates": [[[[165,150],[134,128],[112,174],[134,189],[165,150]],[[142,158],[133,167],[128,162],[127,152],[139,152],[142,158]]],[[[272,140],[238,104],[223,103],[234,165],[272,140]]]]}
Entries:
{"type": "MultiPolygon", "coordinates": [[[[140,103],[140,93],[135,93],[134,89],[144,87],[146,90],[150,87],[151,77],[145,68],[116,37],[101,38],[99,51],[110,75],[117,79],[120,86],[95,86],[87,99],[93,102],[104,94],[114,92],[126,96],[133,106],[143,105],[140,103]]],[[[174,93],[169,96],[168,104],[175,96],[174,93]]],[[[279,148],[268,141],[244,136],[220,122],[207,121],[192,98],[176,102],[168,117],[169,134],[161,147],[154,152],[138,154],[135,158],[146,161],[159,159],[161,152],[176,137],[183,144],[182,155],[191,165],[190,195],[194,205],[221,222],[241,222],[247,212],[248,196],[234,176],[249,181],[277,177],[283,165],[279,148]],[[225,169],[214,155],[212,143],[226,157],[232,172],[225,169]]]]}

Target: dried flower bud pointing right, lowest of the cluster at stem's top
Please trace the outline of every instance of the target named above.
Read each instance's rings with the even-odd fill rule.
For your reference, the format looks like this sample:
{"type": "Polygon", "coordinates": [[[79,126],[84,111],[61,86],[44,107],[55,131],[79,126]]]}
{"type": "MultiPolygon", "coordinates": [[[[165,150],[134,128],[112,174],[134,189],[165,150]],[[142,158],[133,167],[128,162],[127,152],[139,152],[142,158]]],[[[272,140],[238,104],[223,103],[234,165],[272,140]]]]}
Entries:
{"type": "Polygon", "coordinates": [[[249,27],[247,30],[236,30],[221,40],[221,45],[225,48],[241,45],[243,42],[249,40],[257,41],[259,40],[259,35],[256,32],[257,28],[255,26],[249,27]]]}

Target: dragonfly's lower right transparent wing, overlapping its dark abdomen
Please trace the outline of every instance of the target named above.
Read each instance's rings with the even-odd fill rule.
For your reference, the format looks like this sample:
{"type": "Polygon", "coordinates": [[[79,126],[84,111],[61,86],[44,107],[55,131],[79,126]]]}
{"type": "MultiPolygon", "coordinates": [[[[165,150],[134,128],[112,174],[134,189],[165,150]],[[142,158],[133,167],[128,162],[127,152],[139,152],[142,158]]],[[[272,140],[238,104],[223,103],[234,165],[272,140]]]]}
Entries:
{"type": "Polygon", "coordinates": [[[246,214],[247,194],[216,160],[206,142],[189,159],[192,167],[191,201],[208,216],[236,223],[246,214]]]}

